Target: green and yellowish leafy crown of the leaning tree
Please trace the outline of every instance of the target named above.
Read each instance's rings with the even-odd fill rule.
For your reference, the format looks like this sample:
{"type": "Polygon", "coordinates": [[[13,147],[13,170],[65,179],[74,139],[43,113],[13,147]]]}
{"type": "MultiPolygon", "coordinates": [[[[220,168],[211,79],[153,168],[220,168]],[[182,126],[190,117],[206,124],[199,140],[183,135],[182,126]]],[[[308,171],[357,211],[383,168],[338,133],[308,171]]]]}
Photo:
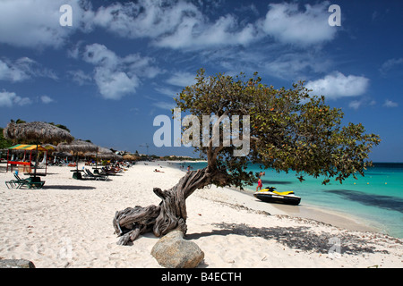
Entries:
{"type": "MultiPolygon", "coordinates": [[[[197,116],[200,122],[202,115],[250,115],[248,156],[233,156],[236,147],[223,147],[222,140],[219,147],[195,147],[207,158],[210,170],[230,173],[224,185],[253,184],[256,176],[244,172],[249,162],[278,172],[296,171],[301,181],[303,175],[312,175],[324,176],[323,184],[330,178],[341,183],[351,175],[364,175],[372,164],[366,161],[371,149],[381,142],[378,135],[366,134],[361,123],[342,124],[341,109],[330,108],[325,97],[310,96],[304,82],[290,89],[273,88],[256,73],[252,79],[244,73],[235,78],[225,74],[206,77],[202,69],[196,81],[176,97],[182,112],[197,116]]],[[[214,183],[223,185],[222,180],[214,183]]]]}

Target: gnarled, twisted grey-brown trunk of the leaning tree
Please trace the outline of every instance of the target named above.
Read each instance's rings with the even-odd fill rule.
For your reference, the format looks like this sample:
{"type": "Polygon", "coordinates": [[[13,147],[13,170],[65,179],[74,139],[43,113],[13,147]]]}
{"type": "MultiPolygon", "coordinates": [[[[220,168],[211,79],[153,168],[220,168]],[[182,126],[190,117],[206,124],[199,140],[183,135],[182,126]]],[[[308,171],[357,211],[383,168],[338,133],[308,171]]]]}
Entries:
{"type": "Polygon", "coordinates": [[[224,185],[226,181],[225,170],[207,166],[204,169],[187,172],[171,189],[154,188],[154,193],[162,199],[159,206],[135,206],[116,212],[113,225],[117,235],[121,237],[117,244],[126,245],[148,231],[152,231],[157,237],[174,230],[186,233],[186,198],[196,189],[208,186],[212,182],[224,185]]]}

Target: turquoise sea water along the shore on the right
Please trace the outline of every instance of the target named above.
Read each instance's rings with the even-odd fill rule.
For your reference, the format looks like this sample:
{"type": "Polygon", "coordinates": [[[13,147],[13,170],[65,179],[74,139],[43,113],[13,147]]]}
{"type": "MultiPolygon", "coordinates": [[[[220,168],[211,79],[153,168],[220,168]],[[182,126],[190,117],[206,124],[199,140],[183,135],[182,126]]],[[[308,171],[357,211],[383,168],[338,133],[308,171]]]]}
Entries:
{"type": "MultiPolygon", "coordinates": [[[[206,163],[189,163],[193,170],[206,163]]],[[[364,222],[394,237],[403,238],[403,163],[374,163],[365,171],[364,177],[348,178],[340,184],[331,181],[326,186],[322,179],[304,176],[296,179],[296,172],[264,170],[263,188],[272,186],[279,191],[293,190],[301,197],[301,206],[316,206],[352,214],[364,222]]],[[[259,164],[249,164],[248,172],[260,172],[259,164]]],[[[255,191],[257,182],[250,189],[255,191]]]]}

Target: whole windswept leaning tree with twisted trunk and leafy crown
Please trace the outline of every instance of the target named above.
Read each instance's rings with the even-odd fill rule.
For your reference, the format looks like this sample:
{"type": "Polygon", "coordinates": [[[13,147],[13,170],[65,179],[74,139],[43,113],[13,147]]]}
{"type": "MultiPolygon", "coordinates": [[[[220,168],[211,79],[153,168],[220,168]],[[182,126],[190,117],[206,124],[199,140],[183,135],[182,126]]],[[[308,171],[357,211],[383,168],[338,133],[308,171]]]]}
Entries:
{"type": "MultiPolygon", "coordinates": [[[[209,122],[211,130],[224,118],[236,118],[239,134],[230,136],[243,139],[247,134],[249,152],[235,156],[241,147],[224,144],[225,132],[219,132],[219,144],[213,144],[211,137],[206,144],[202,130],[193,132],[191,139],[200,137],[196,141],[204,142],[193,147],[207,159],[207,167],[187,172],[175,186],[167,186],[170,189],[154,188],[162,199],[159,206],[135,206],[116,212],[113,224],[121,236],[119,244],[127,244],[147,231],[157,237],[173,230],[185,233],[186,198],[210,184],[239,188],[252,185],[257,179],[245,171],[249,163],[278,172],[296,171],[300,175],[296,179],[301,181],[304,175],[310,175],[324,178],[323,184],[330,180],[342,183],[349,176],[364,175],[364,169],[371,165],[367,161],[371,149],[381,142],[379,136],[365,133],[361,123],[342,124],[341,109],[330,108],[325,97],[309,95],[303,82],[278,89],[263,84],[256,73],[247,79],[243,73],[236,77],[206,76],[203,70],[198,71],[195,80],[175,98],[177,108],[199,122],[203,122],[203,116],[217,116],[216,122],[209,122]]],[[[183,131],[190,128],[192,124],[183,131]]]]}

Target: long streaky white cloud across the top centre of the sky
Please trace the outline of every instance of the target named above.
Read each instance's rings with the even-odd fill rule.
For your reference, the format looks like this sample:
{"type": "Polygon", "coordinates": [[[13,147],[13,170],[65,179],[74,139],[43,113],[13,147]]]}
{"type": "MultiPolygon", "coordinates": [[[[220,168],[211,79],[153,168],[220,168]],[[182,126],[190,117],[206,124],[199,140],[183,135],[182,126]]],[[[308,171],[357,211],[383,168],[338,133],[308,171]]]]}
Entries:
{"type": "Polygon", "coordinates": [[[151,38],[154,45],[173,49],[247,45],[258,37],[253,23],[241,25],[231,14],[210,21],[196,5],[183,1],[111,4],[94,12],[93,25],[124,38],[151,38]]]}

